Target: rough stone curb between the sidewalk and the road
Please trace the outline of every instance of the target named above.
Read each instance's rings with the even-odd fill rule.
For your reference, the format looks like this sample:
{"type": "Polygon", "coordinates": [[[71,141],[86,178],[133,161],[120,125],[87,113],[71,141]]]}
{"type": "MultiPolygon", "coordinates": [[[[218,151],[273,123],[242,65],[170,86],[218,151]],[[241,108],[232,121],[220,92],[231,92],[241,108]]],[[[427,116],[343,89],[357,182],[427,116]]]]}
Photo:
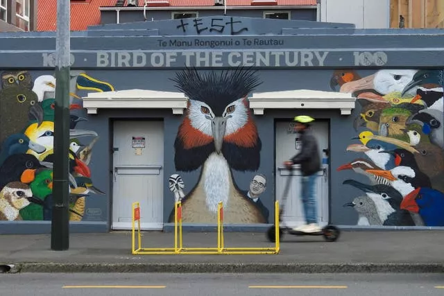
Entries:
{"type": "Polygon", "coordinates": [[[15,263],[18,272],[444,273],[444,263],[15,263]]]}

